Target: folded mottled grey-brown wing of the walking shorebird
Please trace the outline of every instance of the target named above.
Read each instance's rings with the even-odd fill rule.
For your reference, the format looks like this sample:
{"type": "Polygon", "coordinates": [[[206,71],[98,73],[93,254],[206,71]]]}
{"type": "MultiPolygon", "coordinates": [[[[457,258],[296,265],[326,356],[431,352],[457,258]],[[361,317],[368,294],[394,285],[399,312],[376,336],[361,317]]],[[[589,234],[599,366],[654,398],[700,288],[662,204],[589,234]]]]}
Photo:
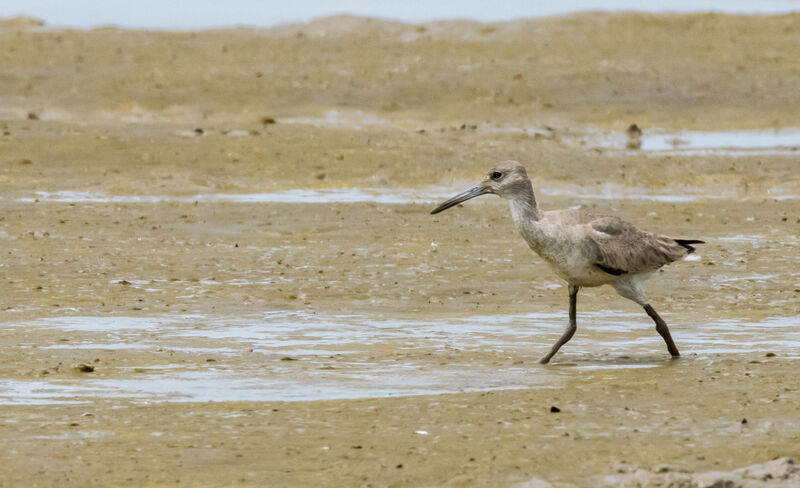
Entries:
{"type": "Polygon", "coordinates": [[[597,217],[586,226],[595,264],[610,274],[655,271],[687,254],[669,237],[639,230],[617,217],[597,217]]]}

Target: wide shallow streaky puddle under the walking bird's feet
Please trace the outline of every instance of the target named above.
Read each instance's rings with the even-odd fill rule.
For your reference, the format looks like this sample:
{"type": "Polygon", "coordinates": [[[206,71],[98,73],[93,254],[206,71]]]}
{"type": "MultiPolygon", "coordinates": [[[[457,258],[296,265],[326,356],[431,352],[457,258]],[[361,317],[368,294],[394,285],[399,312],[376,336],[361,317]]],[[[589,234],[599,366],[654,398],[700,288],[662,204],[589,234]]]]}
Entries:
{"type": "MultiPolygon", "coordinates": [[[[715,319],[686,324],[665,314],[686,356],[800,357],[800,318],[715,319]]],[[[7,324],[94,334],[75,343],[21,347],[111,351],[163,348],[196,362],[141,364],[120,378],[0,379],[0,404],[136,401],[306,401],[495,389],[557,387],[572,374],[670,364],[641,313],[579,313],[579,334],[558,367],[540,367],[564,327],[564,313],[399,320],[312,312],[249,317],[54,317],[7,324]],[[242,354],[252,360],[241,361],[242,354]],[[206,358],[213,355],[213,363],[206,358]]],[[[31,333],[33,332],[33,333],[31,333]]],[[[124,354],[124,353],[122,353],[124,354]]],[[[142,360],[140,360],[142,361],[142,360]]],[[[129,369],[130,369],[129,368],[129,369]]]]}

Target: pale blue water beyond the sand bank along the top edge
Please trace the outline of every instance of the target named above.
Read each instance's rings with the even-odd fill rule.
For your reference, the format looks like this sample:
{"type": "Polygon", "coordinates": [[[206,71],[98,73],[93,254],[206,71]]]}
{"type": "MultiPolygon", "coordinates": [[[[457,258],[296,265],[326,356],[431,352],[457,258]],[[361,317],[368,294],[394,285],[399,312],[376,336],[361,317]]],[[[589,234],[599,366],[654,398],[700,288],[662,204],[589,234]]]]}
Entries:
{"type": "Polygon", "coordinates": [[[562,2],[506,1],[502,8],[486,2],[435,2],[425,9],[403,2],[325,2],[312,0],[281,4],[280,8],[259,2],[236,2],[220,10],[209,0],[194,2],[191,9],[179,4],[147,0],[139,9],[130,9],[121,2],[103,2],[95,8],[64,9],[54,0],[25,2],[12,0],[12,15],[33,15],[59,26],[90,28],[118,25],[146,29],[200,29],[231,25],[273,26],[282,23],[308,22],[314,18],[348,13],[370,17],[397,19],[405,22],[426,22],[441,19],[475,19],[498,21],[524,17],[563,15],[579,11],[644,11],[644,12],[789,12],[797,5],[785,0],[760,2],[714,2],[710,0],[671,0],[652,4],[633,0],[569,0],[562,2]]]}

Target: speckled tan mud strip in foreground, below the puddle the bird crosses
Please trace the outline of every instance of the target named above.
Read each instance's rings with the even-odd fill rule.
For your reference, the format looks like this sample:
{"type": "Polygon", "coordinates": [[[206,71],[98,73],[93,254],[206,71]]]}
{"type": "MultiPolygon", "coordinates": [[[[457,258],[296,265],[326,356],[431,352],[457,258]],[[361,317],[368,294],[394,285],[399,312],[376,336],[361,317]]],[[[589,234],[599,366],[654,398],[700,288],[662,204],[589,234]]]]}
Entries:
{"type": "Polygon", "coordinates": [[[6,406],[4,437],[15,439],[6,466],[16,469],[4,479],[9,486],[486,486],[538,477],[601,486],[620,465],[730,471],[796,455],[800,398],[786,381],[796,369],[797,360],[749,356],[586,374],[558,389],[6,406]],[[743,390],[744,382],[758,386],[743,390]],[[36,469],[31,459],[44,465],[36,469]]]}

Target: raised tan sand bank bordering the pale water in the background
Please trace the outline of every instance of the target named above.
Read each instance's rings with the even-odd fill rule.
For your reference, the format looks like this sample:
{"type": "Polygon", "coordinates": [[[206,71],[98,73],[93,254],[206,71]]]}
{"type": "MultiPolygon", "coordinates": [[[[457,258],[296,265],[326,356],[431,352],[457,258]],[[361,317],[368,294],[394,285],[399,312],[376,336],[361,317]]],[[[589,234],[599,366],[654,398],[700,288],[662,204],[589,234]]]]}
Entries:
{"type": "Polygon", "coordinates": [[[4,108],[253,124],[343,107],[458,125],[797,127],[798,23],[798,14],[599,12],[494,24],[342,16],[180,33],[11,23],[0,31],[13,43],[4,108]]]}

